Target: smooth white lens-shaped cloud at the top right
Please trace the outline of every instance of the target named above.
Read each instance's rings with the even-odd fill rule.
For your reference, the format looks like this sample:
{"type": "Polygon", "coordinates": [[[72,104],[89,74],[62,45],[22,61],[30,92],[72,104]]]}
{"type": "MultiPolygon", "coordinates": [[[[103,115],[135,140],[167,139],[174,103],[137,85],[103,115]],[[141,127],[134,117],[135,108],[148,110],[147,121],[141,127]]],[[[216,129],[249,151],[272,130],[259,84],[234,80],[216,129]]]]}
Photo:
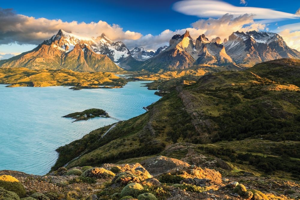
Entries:
{"type": "Polygon", "coordinates": [[[299,16],[291,13],[280,12],[268,8],[238,7],[220,0],[184,0],[173,5],[173,9],[198,17],[221,17],[226,13],[235,17],[245,13],[253,14],[253,19],[298,19],[299,16]]]}

